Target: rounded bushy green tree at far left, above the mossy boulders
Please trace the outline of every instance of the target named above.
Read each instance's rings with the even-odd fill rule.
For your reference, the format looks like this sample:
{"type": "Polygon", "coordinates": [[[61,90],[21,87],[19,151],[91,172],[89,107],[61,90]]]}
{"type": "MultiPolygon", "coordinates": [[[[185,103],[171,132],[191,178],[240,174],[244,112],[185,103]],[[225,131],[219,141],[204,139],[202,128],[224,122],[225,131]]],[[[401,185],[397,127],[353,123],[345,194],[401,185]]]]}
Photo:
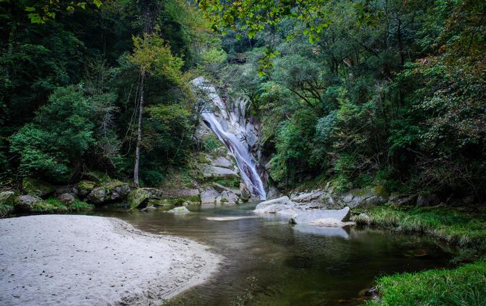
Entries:
{"type": "Polygon", "coordinates": [[[89,99],[72,86],[51,94],[33,122],[10,137],[10,150],[20,156],[20,173],[56,181],[71,178],[94,143],[91,110],[89,99]]]}

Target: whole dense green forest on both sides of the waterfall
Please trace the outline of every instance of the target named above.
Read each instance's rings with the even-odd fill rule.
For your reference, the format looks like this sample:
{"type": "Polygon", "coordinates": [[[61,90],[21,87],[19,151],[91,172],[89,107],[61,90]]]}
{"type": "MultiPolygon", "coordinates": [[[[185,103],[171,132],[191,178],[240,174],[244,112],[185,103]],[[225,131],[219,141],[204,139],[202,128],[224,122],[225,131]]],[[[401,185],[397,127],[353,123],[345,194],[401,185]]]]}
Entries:
{"type": "Polygon", "coordinates": [[[47,2],[32,3],[1,4],[4,185],[87,169],[131,178],[137,147],[141,184],[156,185],[200,146],[187,81],[203,74],[262,121],[278,187],[326,178],[343,191],[380,182],[483,199],[483,1],[317,1],[268,20],[218,1],[199,3],[212,19],[185,1],[60,1],[45,22],[26,8],[47,2]],[[142,6],[153,6],[148,32],[142,6]]]}

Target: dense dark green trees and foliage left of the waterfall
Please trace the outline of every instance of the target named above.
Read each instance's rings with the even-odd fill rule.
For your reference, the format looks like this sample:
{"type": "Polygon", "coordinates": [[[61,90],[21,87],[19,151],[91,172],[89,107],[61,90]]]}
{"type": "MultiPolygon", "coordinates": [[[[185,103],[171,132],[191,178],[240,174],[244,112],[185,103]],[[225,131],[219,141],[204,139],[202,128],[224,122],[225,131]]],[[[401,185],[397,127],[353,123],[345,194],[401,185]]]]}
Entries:
{"type": "Polygon", "coordinates": [[[23,176],[73,182],[94,170],[130,178],[142,68],[142,184],[185,164],[199,123],[187,80],[217,42],[194,6],[10,0],[0,12],[2,184],[23,176]]]}

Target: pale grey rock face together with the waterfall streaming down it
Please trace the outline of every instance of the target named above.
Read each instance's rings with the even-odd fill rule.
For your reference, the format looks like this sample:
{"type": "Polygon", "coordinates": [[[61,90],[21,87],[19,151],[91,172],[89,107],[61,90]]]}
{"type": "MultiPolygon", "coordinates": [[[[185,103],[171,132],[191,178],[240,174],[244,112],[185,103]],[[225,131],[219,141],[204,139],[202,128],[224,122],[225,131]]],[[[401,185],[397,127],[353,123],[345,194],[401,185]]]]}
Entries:
{"type": "MultiPolygon", "coordinates": [[[[201,95],[200,99],[208,101],[206,111],[202,114],[204,123],[233,156],[240,177],[251,195],[265,199],[267,192],[265,179],[262,178],[266,178],[266,174],[264,167],[258,162],[260,125],[255,124],[254,118],[246,118],[246,102],[242,99],[223,101],[215,87],[203,77],[194,79],[192,83],[196,93],[201,95]]],[[[215,169],[215,167],[217,166],[206,167],[206,169],[215,169]]],[[[225,173],[231,175],[230,171],[225,170],[225,173]]],[[[208,176],[207,173],[205,175],[208,176]]]]}

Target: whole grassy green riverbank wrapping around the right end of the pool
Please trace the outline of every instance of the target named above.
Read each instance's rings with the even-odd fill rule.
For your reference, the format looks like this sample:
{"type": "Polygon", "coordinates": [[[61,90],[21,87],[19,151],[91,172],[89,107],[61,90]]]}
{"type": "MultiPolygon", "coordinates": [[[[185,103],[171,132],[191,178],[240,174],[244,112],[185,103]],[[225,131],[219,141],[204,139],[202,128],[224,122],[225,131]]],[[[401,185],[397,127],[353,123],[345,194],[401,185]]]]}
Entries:
{"type": "MultiPolygon", "coordinates": [[[[358,210],[357,210],[358,211],[358,210]]],[[[422,233],[458,248],[455,269],[398,273],[378,278],[379,299],[367,305],[484,305],[486,296],[486,216],[478,207],[370,206],[353,220],[396,232],[422,233]]]]}

